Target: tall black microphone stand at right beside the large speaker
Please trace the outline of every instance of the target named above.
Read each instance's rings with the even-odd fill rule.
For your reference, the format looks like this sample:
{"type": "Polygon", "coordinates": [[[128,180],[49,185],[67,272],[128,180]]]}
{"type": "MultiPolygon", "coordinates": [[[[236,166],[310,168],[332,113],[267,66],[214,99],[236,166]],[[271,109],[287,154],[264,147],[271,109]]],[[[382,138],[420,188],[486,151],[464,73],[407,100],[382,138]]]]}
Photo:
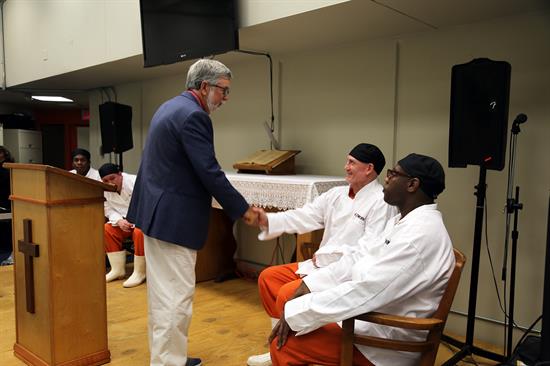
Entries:
{"type": "MultiPolygon", "coordinates": [[[[523,115],[525,117],[525,115],[523,115]]],[[[508,168],[508,189],[506,197],[506,235],[504,241],[504,260],[502,264],[502,281],[506,281],[507,273],[507,254],[508,254],[508,238],[510,233],[510,219],[511,215],[514,215],[514,228],[512,230],[512,257],[510,259],[511,271],[510,271],[510,299],[508,317],[505,318],[505,324],[507,324],[507,341],[506,341],[506,358],[509,359],[512,356],[512,336],[514,331],[514,301],[515,301],[515,287],[516,287],[516,253],[517,243],[519,238],[518,231],[518,213],[523,209],[523,204],[519,202],[519,186],[516,186],[515,198],[512,197],[512,187],[514,185],[514,174],[516,168],[516,149],[517,149],[517,136],[521,132],[519,128],[520,123],[523,123],[527,118],[520,119],[519,116],[512,124],[512,135],[510,136],[510,162],[508,168]]],[[[505,300],[506,301],[506,300],[505,300]]],[[[506,315],[506,314],[505,314],[506,315]]]]}

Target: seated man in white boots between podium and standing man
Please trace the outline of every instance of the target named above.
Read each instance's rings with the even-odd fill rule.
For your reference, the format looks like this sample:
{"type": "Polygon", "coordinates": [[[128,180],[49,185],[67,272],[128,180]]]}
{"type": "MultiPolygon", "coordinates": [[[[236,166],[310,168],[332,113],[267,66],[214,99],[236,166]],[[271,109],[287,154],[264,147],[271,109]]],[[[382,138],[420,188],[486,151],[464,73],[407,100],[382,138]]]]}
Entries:
{"type": "Polygon", "coordinates": [[[105,251],[111,264],[107,273],[107,282],[124,278],[126,275],[126,250],[122,242],[128,237],[134,241],[134,272],[122,286],[135,287],[145,281],[145,253],[143,250],[143,232],[126,220],[132,198],[136,176],[122,173],[118,165],[107,163],[99,168],[103,183],[114,184],[116,192],[105,192],[105,251]]]}

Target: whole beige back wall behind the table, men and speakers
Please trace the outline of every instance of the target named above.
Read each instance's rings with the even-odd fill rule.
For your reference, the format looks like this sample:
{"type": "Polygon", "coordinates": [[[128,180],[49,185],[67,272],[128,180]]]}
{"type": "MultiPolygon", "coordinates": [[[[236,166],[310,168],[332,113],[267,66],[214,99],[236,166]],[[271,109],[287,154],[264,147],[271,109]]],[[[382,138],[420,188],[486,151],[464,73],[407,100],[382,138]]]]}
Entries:
{"type": "MultiPolygon", "coordinates": [[[[520,212],[515,314],[516,322],[523,326],[540,315],[542,307],[550,188],[549,19],[548,13],[538,13],[400,39],[274,55],[275,111],[282,146],[302,150],[297,156],[300,172],[330,175],[343,173],[347,152],[362,141],[379,145],[388,166],[409,152],[432,155],[447,166],[451,67],[477,57],[511,63],[510,120],[520,112],[529,116],[518,138],[516,175],[524,209],[520,212]]],[[[267,61],[251,56],[228,66],[235,74],[230,101],[212,117],[219,161],[231,170],[237,159],[268,146],[261,123],[270,111],[267,61]]],[[[125,158],[127,170],[137,170],[139,146],[145,141],[152,114],[164,100],[184,89],[184,78],[179,75],[117,86],[119,102],[132,104],[134,116],[141,116],[134,120],[136,148],[125,158]]],[[[92,145],[94,139],[98,141],[98,102],[97,97],[95,102],[92,98],[90,105],[92,145]]],[[[94,157],[94,161],[98,160],[94,157]]],[[[454,245],[469,260],[453,309],[466,312],[478,168],[447,168],[446,173],[447,190],[438,201],[454,245]]],[[[487,183],[489,247],[502,287],[506,172],[489,171],[487,183]]],[[[238,236],[244,239],[241,257],[263,263],[271,258],[273,243],[258,245],[255,232],[249,229],[240,230],[238,236]]],[[[287,250],[292,247],[288,241],[286,238],[287,250]]],[[[477,314],[503,319],[485,249],[477,314]]],[[[476,327],[476,337],[501,344],[501,327],[485,321],[478,321],[476,327]]],[[[452,316],[448,329],[464,334],[465,318],[452,316]]]]}

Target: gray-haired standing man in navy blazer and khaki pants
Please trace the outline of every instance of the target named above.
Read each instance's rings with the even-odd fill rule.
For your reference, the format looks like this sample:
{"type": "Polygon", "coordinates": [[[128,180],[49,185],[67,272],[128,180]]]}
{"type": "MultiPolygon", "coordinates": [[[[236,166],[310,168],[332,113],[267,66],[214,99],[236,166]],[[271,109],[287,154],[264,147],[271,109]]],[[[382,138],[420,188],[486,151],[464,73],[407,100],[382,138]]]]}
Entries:
{"type": "Polygon", "coordinates": [[[127,215],[145,234],[151,365],[201,364],[187,357],[187,335],[212,196],[231,219],[257,220],[214,153],[209,114],[228,100],[230,84],[225,65],[199,60],[189,68],[187,91],[151,120],[127,215]]]}

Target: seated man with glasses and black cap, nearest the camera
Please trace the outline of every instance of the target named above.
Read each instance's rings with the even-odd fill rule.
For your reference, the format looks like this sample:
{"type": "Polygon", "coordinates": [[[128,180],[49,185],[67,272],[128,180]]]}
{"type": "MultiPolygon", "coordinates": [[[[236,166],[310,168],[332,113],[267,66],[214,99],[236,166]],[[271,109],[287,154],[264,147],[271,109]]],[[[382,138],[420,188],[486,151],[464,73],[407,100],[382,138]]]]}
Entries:
{"type": "MultiPolygon", "coordinates": [[[[337,322],[370,311],[430,317],[454,267],[451,240],[434,199],[445,188],[435,159],[410,154],[388,169],[384,200],[400,214],[379,236],[303,279],[270,336],[274,365],[338,365],[337,322]],[[297,332],[296,334],[294,332],[297,332]]],[[[358,321],[355,333],[417,341],[426,333],[358,321]]],[[[357,345],[354,365],[414,365],[418,354],[357,345]]]]}

